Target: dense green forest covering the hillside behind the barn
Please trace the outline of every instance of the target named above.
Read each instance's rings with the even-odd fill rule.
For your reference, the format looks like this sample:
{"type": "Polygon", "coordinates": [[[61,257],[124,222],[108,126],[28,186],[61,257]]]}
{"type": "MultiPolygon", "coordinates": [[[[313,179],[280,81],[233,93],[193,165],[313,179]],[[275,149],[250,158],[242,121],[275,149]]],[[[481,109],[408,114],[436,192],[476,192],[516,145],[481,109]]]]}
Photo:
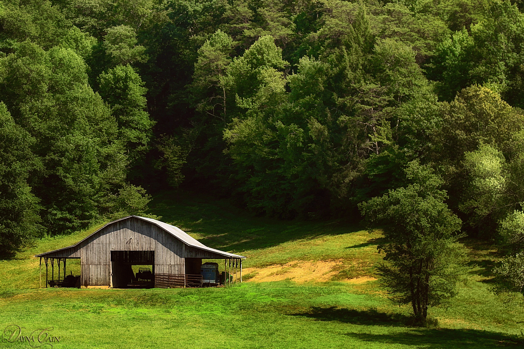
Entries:
{"type": "Polygon", "coordinates": [[[523,6],[2,0],[0,249],[144,214],[168,187],[359,220],[431,182],[451,231],[516,272],[523,6]]]}

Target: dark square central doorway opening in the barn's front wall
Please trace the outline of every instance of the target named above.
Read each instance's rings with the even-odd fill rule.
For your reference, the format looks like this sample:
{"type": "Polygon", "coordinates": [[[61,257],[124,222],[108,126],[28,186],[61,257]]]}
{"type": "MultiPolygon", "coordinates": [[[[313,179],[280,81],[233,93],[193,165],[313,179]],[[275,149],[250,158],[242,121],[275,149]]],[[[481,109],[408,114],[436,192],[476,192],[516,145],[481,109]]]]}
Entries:
{"type": "Polygon", "coordinates": [[[150,288],[155,284],[155,251],[111,251],[114,288],[150,288]]]}

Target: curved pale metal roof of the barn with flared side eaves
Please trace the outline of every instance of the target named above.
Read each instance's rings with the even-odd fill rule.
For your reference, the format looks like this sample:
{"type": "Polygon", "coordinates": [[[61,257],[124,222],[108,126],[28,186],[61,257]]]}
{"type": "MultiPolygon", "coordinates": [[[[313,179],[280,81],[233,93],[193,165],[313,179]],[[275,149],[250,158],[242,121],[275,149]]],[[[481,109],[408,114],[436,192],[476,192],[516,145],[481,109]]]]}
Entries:
{"type": "Polygon", "coordinates": [[[59,248],[59,249],[56,249],[56,250],[52,250],[52,251],[49,251],[49,252],[46,252],[46,253],[42,253],[42,254],[36,255],[35,257],[50,257],[50,258],[64,258],[65,257],[65,258],[67,258],[68,256],[71,256],[72,254],[74,254],[74,252],[76,250],[80,249],[83,246],[83,243],[85,241],[89,241],[96,234],[99,234],[99,232],[103,231],[105,227],[107,227],[107,226],[109,226],[111,224],[114,224],[116,222],[127,220],[127,219],[129,219],[131,217],[134,217],[136,219],[147,221],[147,222],[150,222],[152,224],[155,224],[158,227],[160,227],[162,231],[166,232],[167,234],[170,234],[170,235],[174,236],[175,238],[177,238],[179,241],[183,242],[184,244],[186,244],[188,246],[191,246],[191,247],[195,247],[197,249],[200,249],[200,250],[202,250],[202,252],[207,252],[207,253],[211,253],[211,254],[214,254],[214,255],[218,255],[218,256],[216,256],[218,258],[242,258],[242,259],[246,258],[244,256],[239,256],[239,255],[236,255],[236,254],[233,254],[233,253],[228,253],[228,252],[221,251],[219,249],[214,249],[214,248],[205,246],[204,244],[202,244],[198,240],[192,238],[187,233],[185,233],[182,230],[180,230],[178,227],[173,226],[171,224],[160,222],[160,221],[152,219],[152,218],[140,217],[140,216],[135,216],[135,215],[130,215],[130,216],[124,217],[122,219],[119,219],[119,220],[107,223],[106,225],[101,227],[99,230],[97,230],[93,234],[91,234],[88,237],[85,237],[84,239],[82,239],[82,241],[78,242],[77,244],[74,244],[74,245],[69,246],[69,247],[63,247],[63,248],[59,248]]]}

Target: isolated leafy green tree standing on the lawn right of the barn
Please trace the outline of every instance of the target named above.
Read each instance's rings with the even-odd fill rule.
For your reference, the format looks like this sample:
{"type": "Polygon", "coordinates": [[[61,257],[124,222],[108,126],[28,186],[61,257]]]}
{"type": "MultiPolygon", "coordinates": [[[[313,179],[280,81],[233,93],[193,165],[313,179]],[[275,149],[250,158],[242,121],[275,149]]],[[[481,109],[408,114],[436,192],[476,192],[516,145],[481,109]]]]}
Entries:
{"type": "Polygon", "coordinates": [[[408,186],[359,204],[367,223],[384,227],[386,253],[377,270],[390,298],[411,303],[422,324],[428,308],[455,295],[464,265],[457,243],[461,220],[444,203],[442,179],[417,161],[406,169],[408,186]]]}

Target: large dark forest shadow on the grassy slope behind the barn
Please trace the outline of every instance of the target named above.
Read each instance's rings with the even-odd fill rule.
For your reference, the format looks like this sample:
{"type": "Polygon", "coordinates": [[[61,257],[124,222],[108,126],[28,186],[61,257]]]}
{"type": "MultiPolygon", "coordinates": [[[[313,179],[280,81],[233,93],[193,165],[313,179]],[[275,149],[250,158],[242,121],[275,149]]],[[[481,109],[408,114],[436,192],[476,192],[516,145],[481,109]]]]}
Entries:
{"type": "Polygon", "coordinates": [[[162,221],[176,225],[185,232],[201,235],[199,241],[204,245],[231,252],[362,230],[357,224],[341,220],[284,221],[255,217],[236,208],[228,200],[184,191],[159,194],[149,206],[151,213],[162,216],[162,221]]]}

